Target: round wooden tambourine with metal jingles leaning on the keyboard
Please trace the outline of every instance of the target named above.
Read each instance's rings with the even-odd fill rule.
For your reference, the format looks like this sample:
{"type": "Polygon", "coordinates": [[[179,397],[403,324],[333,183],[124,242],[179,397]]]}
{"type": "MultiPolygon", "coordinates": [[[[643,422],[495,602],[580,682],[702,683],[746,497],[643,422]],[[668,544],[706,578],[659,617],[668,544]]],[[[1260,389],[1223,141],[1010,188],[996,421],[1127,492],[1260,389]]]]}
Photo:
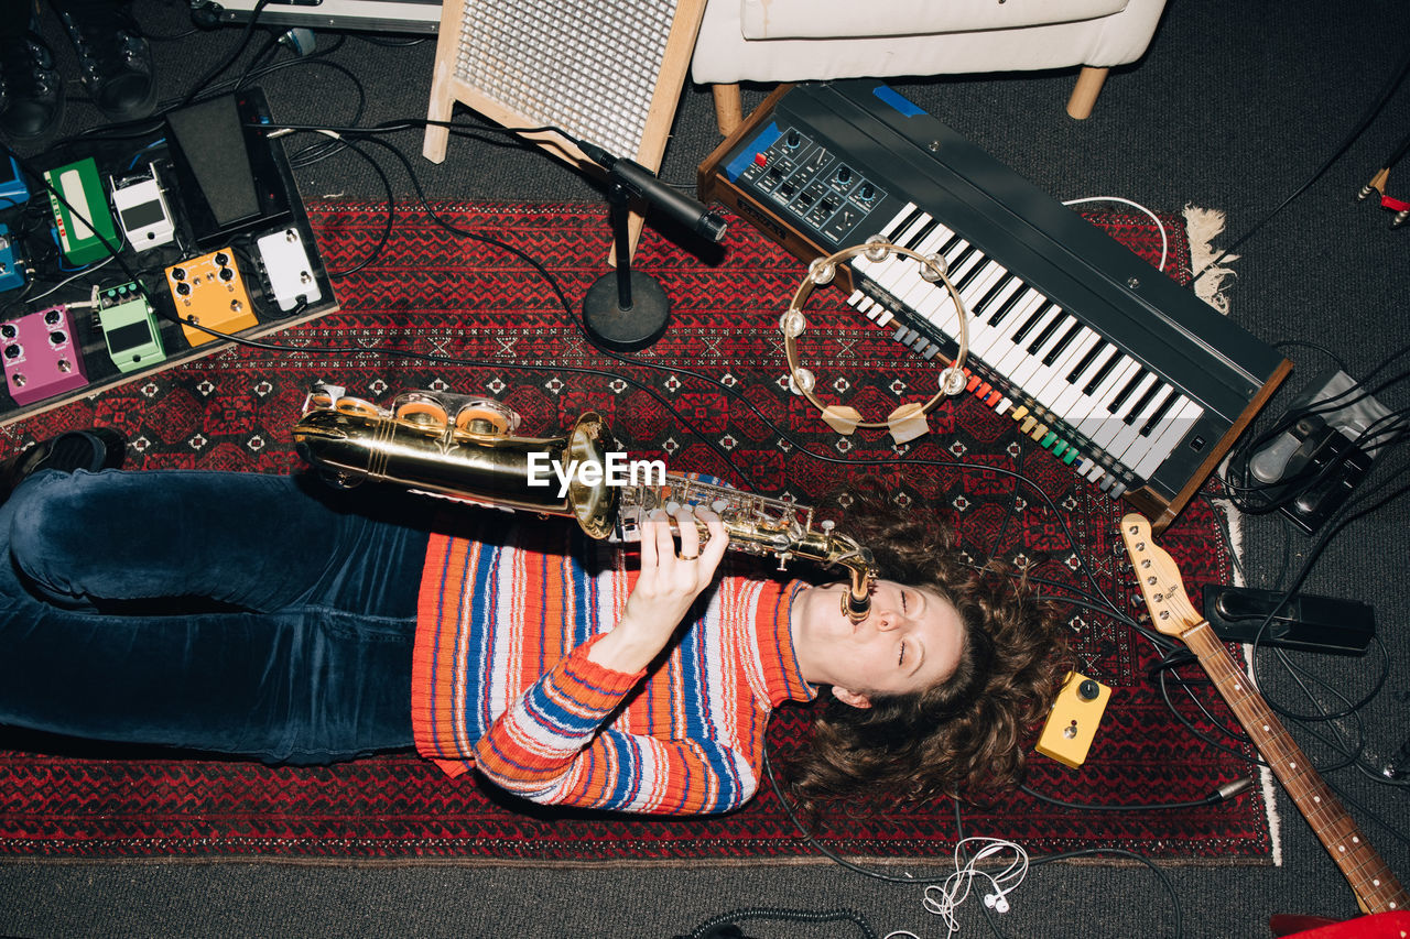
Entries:
{"type": "Polygon", "coordinates": [[[969,357],[969,312],[964,307],[964,302],[960,299],[959,289],[950,281],[945,258],[938,254],[922,255],[918,251],[887,241],[881,235],[873,235],[863,244],[842,248],[840,251],[829,254],[825,258],[818,258],[808,265],[808,274],[798,285],[798,290],[794,292],[788,310],[783,314],[783,317],[780,317],[778,329],[784,334],[784,354],[788,357],[790,386],[795,393],[807,398],[808,402],[822,413],[822,419],[828,423],[828,426],[842,434],[850,434],[854,430],[890,430],[897,438],[897,443],[919,437],[926,433],[926,415],[935,410],[935,406],[939,405],[943,398],[957,395],[964,391],[966,383],[969,382],[969,376],[964,372],[964,360],[969,357]],[[808,302],[808,297],[812,296],[815,286],[822,286],[833,281],[839,264],[849,262],[857,255],[866,255],[867,261],[871,261],[873,264],[880,264],[890,255],[898,255],[916,261],[921,265],[922,279],[929,281],[931,283],[945,285],[945,289],[949,292],[950,300],[953,302],[955,316],[959,321],[959,329],[956,330],[959,348],[950,364],[940,369],[939,388],[935,395],[932,395],[924,405],[901,405],[891,412],[888,419],[884,422],[862,420],[862,415],[852,407],[823,403],[814,392],[814,388],[818,383],[816,376],[802,367],[798,357],[798,336],[808,329],[808,320],[802,313],[804,305],[808,302]]]}

